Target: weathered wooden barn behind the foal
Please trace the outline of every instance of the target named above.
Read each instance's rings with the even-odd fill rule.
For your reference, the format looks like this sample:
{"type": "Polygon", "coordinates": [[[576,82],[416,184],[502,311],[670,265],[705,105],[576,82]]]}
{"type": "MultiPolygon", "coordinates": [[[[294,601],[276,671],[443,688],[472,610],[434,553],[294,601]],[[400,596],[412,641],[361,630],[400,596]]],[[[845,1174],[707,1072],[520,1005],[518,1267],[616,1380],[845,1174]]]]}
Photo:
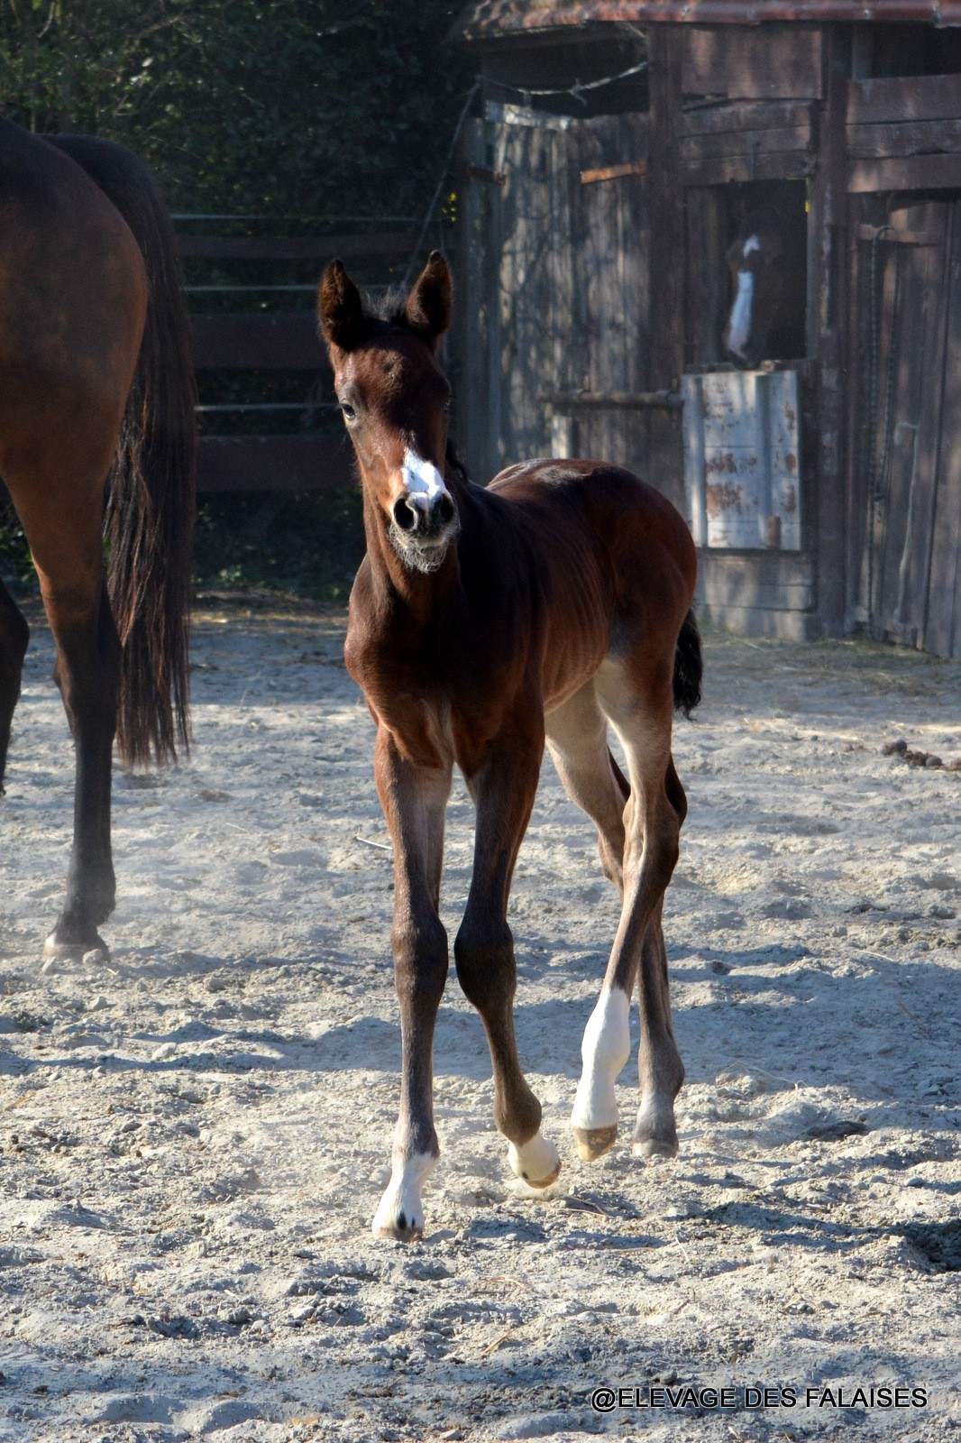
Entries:
{"type": "Polygon", "coordinates": [[[960,657],[961,3],[478,0],[456,39],[473,473],[620,462],[687,511],[714,623],[960,657]],[[765,214],[788,319],[734,364],[765,214]]]}

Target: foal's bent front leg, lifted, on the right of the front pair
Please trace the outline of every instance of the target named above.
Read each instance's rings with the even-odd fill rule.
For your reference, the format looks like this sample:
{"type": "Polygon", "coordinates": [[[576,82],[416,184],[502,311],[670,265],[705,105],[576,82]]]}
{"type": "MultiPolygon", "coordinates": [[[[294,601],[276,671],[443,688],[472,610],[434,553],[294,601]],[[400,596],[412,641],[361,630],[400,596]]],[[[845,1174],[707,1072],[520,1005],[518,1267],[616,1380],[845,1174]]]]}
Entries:
{"type": "Polygon", "coordinates": [[[480,1013],[491,1046],[493,1121],[508,1139],[511,1167],[534,1188],[554,1182],[560,1157],[554,1143],[541,1137],[541,1104],[527,1085],[517,1055],[517,964],[506,905],[514,863],[534,805],[543,750],[543,732],[538,737],[499,737],[480,771],[470,778],[478,807],[473,877],[455,941],[457,980],[480,1013]]]}

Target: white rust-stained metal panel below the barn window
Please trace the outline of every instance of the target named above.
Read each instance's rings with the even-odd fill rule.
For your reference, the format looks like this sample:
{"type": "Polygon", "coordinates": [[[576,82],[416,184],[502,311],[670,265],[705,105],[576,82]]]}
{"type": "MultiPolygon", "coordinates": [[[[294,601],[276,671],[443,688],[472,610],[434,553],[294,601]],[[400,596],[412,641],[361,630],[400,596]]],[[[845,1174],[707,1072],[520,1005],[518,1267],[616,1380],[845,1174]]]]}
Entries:
{"type": "Polygon", "coordinates": [[[801,550],[797,371],[687,375],[684,459],[698,545],[801,550]]]}

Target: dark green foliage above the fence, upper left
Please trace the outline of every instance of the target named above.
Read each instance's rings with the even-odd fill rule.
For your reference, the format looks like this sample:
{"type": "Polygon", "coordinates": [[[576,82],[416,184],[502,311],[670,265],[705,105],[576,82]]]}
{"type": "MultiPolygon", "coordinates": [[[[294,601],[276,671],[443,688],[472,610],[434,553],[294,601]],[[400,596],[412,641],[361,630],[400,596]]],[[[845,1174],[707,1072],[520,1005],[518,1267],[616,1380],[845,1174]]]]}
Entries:
{"type": "Polygon", "coordinates": [[[420,215],[466,89],[449,0],[0,0],[3,113],[149,160],[176,211],[420,215]]]}

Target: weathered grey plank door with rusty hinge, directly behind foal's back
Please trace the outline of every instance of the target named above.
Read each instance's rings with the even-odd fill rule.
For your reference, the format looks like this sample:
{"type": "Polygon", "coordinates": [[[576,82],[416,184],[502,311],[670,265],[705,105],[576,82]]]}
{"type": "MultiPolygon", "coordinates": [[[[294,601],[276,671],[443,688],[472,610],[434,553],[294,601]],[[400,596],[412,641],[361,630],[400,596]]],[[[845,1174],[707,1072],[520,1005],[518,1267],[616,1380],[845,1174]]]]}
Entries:
{"type": "Polygon", "coordinates": [[[646,385],[646,131],[493,104],[465,127],[456,433],[479,481],[544,455],[645,468],[646,421],[545,398],[646,385]]]}

